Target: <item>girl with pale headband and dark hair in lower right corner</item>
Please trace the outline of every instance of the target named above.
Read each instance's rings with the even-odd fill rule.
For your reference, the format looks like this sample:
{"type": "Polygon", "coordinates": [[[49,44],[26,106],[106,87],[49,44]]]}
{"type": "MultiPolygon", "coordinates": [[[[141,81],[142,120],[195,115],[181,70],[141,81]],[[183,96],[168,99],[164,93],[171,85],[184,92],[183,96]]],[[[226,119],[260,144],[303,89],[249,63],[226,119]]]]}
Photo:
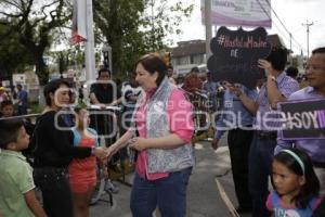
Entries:
{"type": "Polygon", "coordinates": [[[266,207],[275,217],[310,217],[320,200],[320,181],[310,157],[297,149],[282,150],[272,163],[274,191],[266,207]]]}

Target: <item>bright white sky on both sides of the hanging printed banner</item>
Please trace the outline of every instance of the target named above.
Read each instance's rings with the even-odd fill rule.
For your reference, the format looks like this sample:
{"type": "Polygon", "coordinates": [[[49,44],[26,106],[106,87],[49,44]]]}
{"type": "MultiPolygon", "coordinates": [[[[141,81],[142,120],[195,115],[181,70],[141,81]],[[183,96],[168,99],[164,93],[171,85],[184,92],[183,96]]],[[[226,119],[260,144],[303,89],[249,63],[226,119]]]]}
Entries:
{"type": "MultiPolygon", "coordinates": [[[[182,0],[182,2],[193,3],[195,5],[194,11],[190,18],[182,22],[181,29],[183,33],[170,37],[176,42],[205,39],[205,26],[202,24],[200,16],[200,0],[182,0]]],[[[325,47],[325,0],[271,0],[271,5],[292,35],[294,53],[300,54],[302,48],[303,54],[307,55],[307,28],[302,26],[302,23],[307,23],[307,21],[308,23],[313,22],[309,35],[310,53],[315,48],[325,47]]],[[[268,34],[280,35],[286,47],[289,48],[289,35],[282,27],[274,13],[272,13],[272,28],[266,28],[266,31],[268,34]]]]}

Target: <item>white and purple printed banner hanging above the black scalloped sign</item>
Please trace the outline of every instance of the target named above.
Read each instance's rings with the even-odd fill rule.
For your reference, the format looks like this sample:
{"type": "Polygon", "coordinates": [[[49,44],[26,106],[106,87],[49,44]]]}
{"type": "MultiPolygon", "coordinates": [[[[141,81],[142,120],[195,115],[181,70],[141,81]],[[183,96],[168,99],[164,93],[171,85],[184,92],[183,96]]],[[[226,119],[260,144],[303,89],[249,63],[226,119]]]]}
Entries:
{"type": "MultiPolygon", "coordinates": [[[[205,0],[200,1],[205,24],[205,0]]],[[[270,27],[271,0],[211,0],[211,22],[223,26],[270,27]]]]}

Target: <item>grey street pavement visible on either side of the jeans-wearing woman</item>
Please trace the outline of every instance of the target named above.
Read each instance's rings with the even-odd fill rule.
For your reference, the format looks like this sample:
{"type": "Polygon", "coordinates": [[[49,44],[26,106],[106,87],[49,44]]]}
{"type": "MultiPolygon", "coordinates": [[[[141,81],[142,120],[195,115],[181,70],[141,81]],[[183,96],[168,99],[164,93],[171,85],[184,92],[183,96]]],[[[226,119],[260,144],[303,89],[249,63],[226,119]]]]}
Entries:
{"type": "MultiPolygon", "coordinates": [[[[231,201],[236,206],[234,196],[234,184],[231,175],[231,165],[229,150],[225,141],[221,142],[216,152],[208,142],[196,143],[197,164],[190,179],[187,191],[187,216],[188,217],[225,217],[231,216],[221,200],[217,184],[216,176],[220,176],[219,181],[224,187],[231,201]],[[223,176],[224,175],[224,176],[223,176]]],[[[128,177],[131,179],[131,176],[128,177]]],[[[91,207],[93,217],[131,217],[129,208],[130,187],[116,182],[119,193],[114,194],[114,205],[110,207],[106,202],[99,202],[91,207]]],[[[107,199],[104,195],[103,199],[107,199]]],[[[172,203],[172,199],[171,199],[172,203]]],[[[156,215],[159,216],[159,215],[156,215]]],[[[243,215],[244,216],[244,215],[243,215]]],[[[246,215],[249,216],[249,215],[246,215]]]]}

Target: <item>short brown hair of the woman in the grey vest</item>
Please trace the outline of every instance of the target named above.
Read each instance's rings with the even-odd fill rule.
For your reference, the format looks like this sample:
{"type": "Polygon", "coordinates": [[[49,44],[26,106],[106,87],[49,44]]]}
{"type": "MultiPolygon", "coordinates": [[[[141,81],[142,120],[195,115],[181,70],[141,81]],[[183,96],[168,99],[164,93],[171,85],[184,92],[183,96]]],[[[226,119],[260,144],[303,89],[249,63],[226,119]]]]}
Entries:
{"type": "Polygon", "coordinates": [[[151,75],[153,75],[155,72],[158,73],[156,85],[159,86],[167,75],[167,65],[161,56],[158,53],[148,53],[138,60],[135,67],[140,63],[151,75]]]}

